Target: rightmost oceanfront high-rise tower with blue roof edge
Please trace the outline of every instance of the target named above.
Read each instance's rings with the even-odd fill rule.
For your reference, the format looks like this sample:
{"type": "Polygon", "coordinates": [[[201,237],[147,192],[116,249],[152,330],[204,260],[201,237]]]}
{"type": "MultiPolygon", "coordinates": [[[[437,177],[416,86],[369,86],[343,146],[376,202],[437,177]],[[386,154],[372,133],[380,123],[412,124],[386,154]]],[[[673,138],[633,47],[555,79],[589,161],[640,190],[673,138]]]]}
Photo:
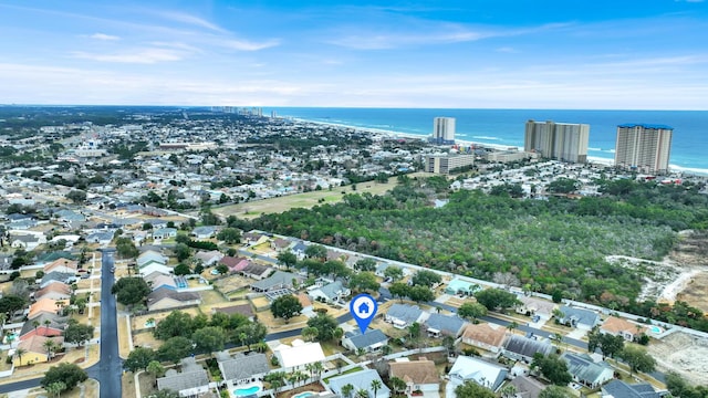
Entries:
{"type": "Polygon", "coordinates": [[[668,171],[674,127],[624,124],[617,126],[615,166],[639,172],[668,171]]]}

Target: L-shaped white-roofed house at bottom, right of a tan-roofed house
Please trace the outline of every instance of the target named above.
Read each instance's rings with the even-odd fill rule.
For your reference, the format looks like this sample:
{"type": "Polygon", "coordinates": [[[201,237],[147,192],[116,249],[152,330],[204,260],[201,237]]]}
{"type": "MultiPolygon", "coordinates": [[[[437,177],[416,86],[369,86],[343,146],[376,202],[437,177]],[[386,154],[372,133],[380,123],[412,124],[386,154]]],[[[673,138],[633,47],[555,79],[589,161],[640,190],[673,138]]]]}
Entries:
{"type": "Polygon", "coordinates": [[[509,370],[501,365],[491,364],[480,358],[459,356],[448,373],[449,381],[445,389],[445,396],[446,398],[456,398],[455,388],[468,380],[496,391],[508,374],[509,370]]]}

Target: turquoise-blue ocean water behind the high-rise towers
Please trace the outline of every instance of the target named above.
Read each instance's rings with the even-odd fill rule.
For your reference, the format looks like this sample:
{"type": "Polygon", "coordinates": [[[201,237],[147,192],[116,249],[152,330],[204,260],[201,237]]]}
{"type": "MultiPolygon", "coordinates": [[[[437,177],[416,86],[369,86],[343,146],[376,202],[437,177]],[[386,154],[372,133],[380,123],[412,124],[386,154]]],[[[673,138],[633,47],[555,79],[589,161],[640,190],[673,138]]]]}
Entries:
{"type": "Polygon", "coordinates": [[[523,147],[525,122],[553,121],[590,125],[587,156],[614,159],[617,125],[664,124],[674,127],[671,169],[708,175],[708,111],[582,111],[582,109],[419,109],[272,107],[278,116],[429,136],[433,119],[456,118],[456,139],[523,147]]]}

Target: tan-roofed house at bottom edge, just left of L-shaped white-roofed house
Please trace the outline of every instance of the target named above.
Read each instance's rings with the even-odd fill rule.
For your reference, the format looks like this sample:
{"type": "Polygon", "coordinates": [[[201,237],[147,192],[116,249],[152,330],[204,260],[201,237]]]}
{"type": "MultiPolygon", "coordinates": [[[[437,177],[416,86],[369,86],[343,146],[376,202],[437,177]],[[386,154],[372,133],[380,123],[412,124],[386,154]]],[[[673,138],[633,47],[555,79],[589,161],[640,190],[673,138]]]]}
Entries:
{"type": "Polygon", "coordinates": [[[398,377],[406,383],[406,395],[423,398],[438,398],[440,396],[440,375],[438,374],[435,363],[428,359],[396,360],[389,363],[388,374],[391,377],[398,377]],[[421,392],[421,395],[419,392],[421,392]]]}

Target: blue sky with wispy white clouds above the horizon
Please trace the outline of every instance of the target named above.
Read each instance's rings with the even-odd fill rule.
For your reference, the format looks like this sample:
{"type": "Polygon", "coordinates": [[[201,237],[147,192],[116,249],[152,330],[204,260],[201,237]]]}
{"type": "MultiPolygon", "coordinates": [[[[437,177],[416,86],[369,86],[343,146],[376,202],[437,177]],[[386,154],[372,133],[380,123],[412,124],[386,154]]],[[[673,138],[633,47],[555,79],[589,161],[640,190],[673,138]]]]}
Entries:
{"type": "Polygon", "coordinates": [[[7,1],[0,103],[708,109],[708,3],[7,1]]]}

